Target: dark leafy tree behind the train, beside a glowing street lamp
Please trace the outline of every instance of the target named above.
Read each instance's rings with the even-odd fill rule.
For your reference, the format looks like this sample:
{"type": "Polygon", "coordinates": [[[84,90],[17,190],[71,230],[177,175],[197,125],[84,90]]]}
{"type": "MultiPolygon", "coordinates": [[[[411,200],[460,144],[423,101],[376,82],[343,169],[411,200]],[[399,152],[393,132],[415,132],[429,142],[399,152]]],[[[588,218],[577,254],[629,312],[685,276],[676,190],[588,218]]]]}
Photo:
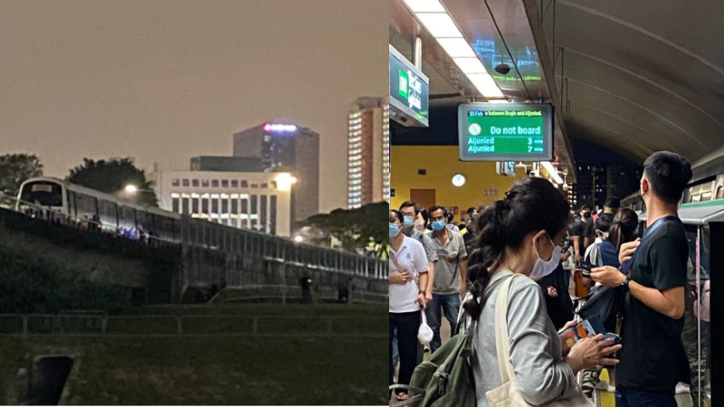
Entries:
{"type": "Polygon", "coordinates": [[[71,169],[66,179],[72,184],[82,185],[106,194],[119,194],[138,204],[158,206],[153,185],[146,179],[146,172],[133,164],[133,158],[110,158],[92,160],[83,158],[82,166],[71,169]],[[136,185],[136,196],[124,192],[126,185],[136,185]]]}

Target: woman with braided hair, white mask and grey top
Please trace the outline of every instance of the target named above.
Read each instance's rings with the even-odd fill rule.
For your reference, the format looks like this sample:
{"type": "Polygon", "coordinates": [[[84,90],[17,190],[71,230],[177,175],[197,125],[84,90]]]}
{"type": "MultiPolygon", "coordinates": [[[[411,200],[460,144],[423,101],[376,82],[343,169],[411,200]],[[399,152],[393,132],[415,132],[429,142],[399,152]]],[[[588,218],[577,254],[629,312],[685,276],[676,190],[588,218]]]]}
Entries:
{"type": "Polygon", "coordinates": [[[534,177],[519,180],[505,199],[488,205],[480,214],[477,241],[468,260],[469,293],[461,313],[464,328],[472,328],[474,334],[472,371],[478,406],[488,407],[486,393],[503,384],[495,317],[496,312],[506,312],[496,310],[504,283],[510,284],[506,315],[510,363],[519,393],[527,402],[540,405],[580,397],[579,371],[617,363],[607,355],[620,345],[603,335],[578,341],[564,358],[540,288],[529,279],[556,269],[569,216],[563,194],[548,180],[534,177]],[[518,279],[514,279],[516,275],[518,279]]]}

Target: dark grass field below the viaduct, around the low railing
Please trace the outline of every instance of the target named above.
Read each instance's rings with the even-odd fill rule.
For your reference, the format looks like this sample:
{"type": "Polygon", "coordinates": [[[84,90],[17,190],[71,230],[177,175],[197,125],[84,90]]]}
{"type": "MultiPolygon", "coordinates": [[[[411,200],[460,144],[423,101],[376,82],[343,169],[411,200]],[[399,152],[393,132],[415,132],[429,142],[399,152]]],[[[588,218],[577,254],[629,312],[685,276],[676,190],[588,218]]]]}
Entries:
{"type": "MultiPolygon", "coordinates": [[[[380,306],[143,309],[153,314],[379,317],[380,306]],[[176,311],[176,312],[172,312],[176,311]],[[198,312],[195,312],[198,311],[198,312]]],[[[336,404],[386,402],[387,338],[0,337],[0,367],[25,352],[81,355],[71,404],[336,404]]]]}

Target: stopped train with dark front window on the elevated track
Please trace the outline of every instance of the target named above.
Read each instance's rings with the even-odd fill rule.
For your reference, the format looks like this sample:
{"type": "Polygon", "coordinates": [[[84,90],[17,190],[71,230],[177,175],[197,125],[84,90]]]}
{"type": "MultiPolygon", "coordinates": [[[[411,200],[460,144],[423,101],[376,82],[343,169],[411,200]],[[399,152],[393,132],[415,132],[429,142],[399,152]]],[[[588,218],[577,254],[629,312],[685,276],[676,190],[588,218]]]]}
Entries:
{"type": "Polygon", "coordinates": [[[136,231],[162,241],[180,242],[181,216],[133,204],[119,196],[50,177],[32,178],[20,186],[15,209],[52,211],[63,222],[90,222],[105,232],[136,231]]]}

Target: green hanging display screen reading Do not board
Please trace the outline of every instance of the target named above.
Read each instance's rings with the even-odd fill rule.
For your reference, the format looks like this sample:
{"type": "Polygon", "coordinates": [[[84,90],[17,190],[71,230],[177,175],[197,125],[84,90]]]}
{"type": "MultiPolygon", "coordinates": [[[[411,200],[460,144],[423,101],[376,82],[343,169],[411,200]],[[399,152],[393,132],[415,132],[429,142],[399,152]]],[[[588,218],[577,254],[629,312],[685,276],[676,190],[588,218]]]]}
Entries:
{"type": "Polygon", "coordinates": [[[553,107],[466,103],[458,107],[461,161],[553,160],[553,107]]]}

